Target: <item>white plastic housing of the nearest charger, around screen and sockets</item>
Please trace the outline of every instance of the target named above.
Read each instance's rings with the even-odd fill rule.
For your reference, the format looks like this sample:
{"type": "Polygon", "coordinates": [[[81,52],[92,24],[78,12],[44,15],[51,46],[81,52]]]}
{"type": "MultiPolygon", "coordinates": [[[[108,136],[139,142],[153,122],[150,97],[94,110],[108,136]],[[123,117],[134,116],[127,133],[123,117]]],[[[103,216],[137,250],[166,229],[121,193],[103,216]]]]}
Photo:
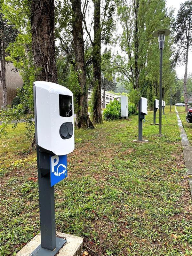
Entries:
{"type": "MultiPolygon", "coordinates": [[[[58,156],[69,154],[75,148],[73,93],[64,86],[50,82],[37,81],[33,85],[36,144],[58,156]],[[67,95],[70,99],[72,97],[72,116],[60,116],[59,95],[61,97],[67,95]],[[73,134],[71,138],[62,139],[60,127],[63,123],[68,122],[73,125],[73,134]]],[[[66,115],[68,115],[67,112],[66,115]]]]}

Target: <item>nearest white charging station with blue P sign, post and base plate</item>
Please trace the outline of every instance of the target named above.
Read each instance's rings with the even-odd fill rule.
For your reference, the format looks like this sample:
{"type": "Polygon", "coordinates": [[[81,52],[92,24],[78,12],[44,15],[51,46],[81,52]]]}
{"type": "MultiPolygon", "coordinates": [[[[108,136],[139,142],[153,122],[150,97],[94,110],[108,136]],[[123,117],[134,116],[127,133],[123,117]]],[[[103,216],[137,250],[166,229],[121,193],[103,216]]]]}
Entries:
{"type": "Polygon", "coordinates": [[[56,237],[54,184],[67,177],[67,154],[75,147],[73,93],[59,84],[33,84],[41,245],[32,255],[55,255],[66,240],[56,237]]]}

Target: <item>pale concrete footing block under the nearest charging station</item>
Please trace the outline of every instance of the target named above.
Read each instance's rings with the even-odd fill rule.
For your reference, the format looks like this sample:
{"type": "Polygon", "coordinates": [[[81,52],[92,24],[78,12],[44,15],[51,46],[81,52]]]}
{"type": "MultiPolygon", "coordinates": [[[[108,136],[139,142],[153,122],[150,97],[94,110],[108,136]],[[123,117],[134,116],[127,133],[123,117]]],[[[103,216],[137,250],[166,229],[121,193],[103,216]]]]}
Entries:
{"type": "MultiPolygon", "coordinates": [[[[60,249],[57,256],[81,256],[83,249],[83,238],[56,232],[57,237],[67,240],[67,243],[60,249]]],[[[31,256],[32,252],[41,244],[40,233],[26,244],[16,256],[31,256]]],[[[46,249],[44,249],[46,250],[46,249]]],[[[46,250],[47,251],[47,250],[46,250]]],[[[44,254],[46,255],[46,253],[44,254]]],[[[35,255],[34,255],[35,256],[35,255]]]]}

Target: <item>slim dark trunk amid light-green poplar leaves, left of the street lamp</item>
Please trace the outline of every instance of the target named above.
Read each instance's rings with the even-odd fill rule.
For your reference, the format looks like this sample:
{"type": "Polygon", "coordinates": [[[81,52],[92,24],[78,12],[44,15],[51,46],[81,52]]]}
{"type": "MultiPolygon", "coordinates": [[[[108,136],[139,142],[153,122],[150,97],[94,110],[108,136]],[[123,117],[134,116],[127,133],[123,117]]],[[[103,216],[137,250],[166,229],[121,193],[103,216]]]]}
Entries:
{"type": "Polygon", "coordinates": [[[138,59],[139,59],[139,38],[138,38],[138,11],[139,11],[139,0],[136,0],[134,3],[134,12],[135,12],[135,29],[134,29],[134,51],[135,51],[135,88],[139,88],[139,68],[138,68],[138,59]]]}

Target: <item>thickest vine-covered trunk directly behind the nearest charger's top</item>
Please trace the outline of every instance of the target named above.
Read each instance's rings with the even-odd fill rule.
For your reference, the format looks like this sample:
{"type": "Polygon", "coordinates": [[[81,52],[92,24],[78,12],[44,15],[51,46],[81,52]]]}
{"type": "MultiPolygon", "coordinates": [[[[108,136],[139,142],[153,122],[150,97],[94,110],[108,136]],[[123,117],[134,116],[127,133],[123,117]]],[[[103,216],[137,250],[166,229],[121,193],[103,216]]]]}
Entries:
{"type": "Polygon", "coordinates": [[[54,37],[54,0],[32,0],[32,50],[38,81],[57,82],[54,37]]]}

